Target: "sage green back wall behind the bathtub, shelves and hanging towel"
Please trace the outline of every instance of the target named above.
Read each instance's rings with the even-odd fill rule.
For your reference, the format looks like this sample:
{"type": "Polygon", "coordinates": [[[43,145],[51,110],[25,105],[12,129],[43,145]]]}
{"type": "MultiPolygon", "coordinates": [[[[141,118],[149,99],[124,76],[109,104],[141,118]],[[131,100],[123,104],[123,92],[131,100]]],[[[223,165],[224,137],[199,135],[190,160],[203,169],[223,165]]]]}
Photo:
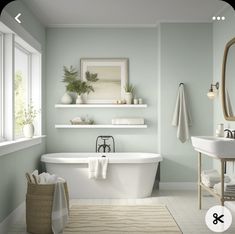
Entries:
{"type": "MultiPolygon", "coordinates": [[[[98,135],[110,134],[117,151],[160,152],[162,182],[196,181],[196,152],[191,142],[181,144],[171,126],[178,84],[184,82],[193,118],[191,135],[211,135],[212,103],[206,92],[212,80],[212,24],[164,23],[150,29],[47,30],[47,151],[95,150],[98,135]],[[160,49],[159,49],[160,48],[160,49]],[[55,109],[65,88],[63,65],[79,67],[82,57],[126,57],[130,82],[149,105],[143,110],[55,109]],[[159,77],[159,79],[158,79],[159,77]],[[144,116],[148,129],[55,129],[88,114],[97,122],[116,116],[144,116]]],[[[211,161],[206,166],[211,167],[211,161]]]]}

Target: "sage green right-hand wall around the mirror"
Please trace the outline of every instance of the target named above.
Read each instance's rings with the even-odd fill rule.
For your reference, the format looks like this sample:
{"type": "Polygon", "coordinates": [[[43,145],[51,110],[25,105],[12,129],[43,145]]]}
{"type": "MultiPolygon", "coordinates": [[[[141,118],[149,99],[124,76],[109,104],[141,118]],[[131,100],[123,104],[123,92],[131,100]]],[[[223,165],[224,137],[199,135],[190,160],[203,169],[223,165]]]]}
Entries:
{"type": "MultiPolygon", "coordinates": [[[[217,81],[221,85],[222,79],[222,63],[225,45],[229,40],[235,37],[235,12],[231,6],[226,8],[221,15],[225,16],[224,21],[215,21],[213,23],[213,82],[217,81]]],[[[221,89],[219,96],[214,100],[214,131],[216,125],[224,123],[225,127],[235,129],[234,121],[226,121],[223,116],[222,101],[221,101],[221,89]]],[[[218,166],[217,163],[214,163],[218,166]]],[[[235,169],[232,163],[228,163],[228,172],[235,177],[235,169]]]]}

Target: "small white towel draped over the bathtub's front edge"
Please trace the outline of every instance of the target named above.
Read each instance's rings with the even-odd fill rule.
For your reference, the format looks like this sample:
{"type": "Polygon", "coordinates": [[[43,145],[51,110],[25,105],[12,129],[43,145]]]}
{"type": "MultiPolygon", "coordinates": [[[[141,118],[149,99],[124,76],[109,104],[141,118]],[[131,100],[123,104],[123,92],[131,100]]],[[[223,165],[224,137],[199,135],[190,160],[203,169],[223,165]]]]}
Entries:
{"type": "Polygon", "coordinates": [[[106,179],[108,168],[107,157],[89,157],[88,158],[88,178],[106,179]]]}

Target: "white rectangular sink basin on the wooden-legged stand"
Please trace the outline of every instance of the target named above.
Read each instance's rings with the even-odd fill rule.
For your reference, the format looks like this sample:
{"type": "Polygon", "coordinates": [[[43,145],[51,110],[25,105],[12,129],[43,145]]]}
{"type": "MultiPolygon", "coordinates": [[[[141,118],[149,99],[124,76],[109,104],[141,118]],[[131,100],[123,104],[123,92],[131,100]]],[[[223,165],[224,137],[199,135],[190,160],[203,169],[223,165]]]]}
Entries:
{"type": "Polygon", "coordinates": [[[214,136],[192,136],[196,151],[219,158],[235,158],[235,140],[214,136]]]}

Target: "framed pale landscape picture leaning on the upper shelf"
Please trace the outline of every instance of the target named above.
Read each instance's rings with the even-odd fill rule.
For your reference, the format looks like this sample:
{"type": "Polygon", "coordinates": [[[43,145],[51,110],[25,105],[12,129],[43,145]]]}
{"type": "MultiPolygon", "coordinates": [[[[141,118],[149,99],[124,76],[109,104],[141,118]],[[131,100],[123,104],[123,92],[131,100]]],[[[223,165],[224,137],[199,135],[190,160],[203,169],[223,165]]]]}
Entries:
{"type": "Polygon", "coordinates": [[[92,84],[95,92],[89,93],[87,103],[116,103],[124,99],[124,87],[128,83],[128,59],[82,58],[82,80],[86,80],[87,71],[97,73],[99,79],[92,84]]]}

